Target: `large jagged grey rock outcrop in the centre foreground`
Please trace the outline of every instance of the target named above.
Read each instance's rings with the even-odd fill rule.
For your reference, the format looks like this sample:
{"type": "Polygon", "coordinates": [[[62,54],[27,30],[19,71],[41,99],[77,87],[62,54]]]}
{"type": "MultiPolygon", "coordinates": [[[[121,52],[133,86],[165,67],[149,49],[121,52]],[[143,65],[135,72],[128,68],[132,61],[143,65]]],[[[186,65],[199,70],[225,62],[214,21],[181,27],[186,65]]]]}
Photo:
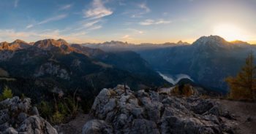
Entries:
{"type": "Polygon", "coordinates": [[[211,99],[182,98],[118,85],[97,95],[87,133],[233,133],[236,120],[211,99]],[[231,117],[231,118],[230,118],[231,117]]]}

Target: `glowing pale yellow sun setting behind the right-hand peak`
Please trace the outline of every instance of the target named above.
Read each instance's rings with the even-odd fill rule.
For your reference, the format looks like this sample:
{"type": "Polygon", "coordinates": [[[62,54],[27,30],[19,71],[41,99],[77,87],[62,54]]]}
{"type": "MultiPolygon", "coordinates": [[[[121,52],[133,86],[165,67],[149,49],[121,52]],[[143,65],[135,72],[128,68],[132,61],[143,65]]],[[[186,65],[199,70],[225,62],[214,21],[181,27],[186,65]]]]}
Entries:
{"type": "Polygon", "coordinates": [[[236,25],[222,24],[214,27],[214,34],[222,36],[228,42],[244,39],[241,28],[236,25]]]}

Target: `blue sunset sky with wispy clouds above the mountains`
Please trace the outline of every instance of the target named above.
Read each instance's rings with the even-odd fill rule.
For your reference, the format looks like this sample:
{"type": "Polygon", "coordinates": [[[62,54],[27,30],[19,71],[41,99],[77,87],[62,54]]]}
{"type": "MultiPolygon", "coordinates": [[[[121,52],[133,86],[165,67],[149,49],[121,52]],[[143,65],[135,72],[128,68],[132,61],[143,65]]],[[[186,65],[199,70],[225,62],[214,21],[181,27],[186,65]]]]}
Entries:
{"type": "Polygon", "coordinates": [[[255,0],[0,0],[0,42],[195,42],[219,35],[256,44],[255,0]]]}

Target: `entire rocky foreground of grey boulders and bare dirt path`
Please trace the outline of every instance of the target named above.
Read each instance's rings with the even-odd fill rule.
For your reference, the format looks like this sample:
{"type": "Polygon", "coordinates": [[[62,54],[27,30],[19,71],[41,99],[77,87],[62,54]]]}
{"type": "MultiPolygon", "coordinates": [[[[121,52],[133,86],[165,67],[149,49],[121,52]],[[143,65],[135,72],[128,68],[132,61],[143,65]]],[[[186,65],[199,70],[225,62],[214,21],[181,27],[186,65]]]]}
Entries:
{"type": "Polygon", "coordinates": [[[0,134],[255,132],[254,103],[185,98],[169,93],[170,90],[133,92],[123,85],[103,89],[95,98],[90,115],[78,116],[56,129],[39,117],[29,98],[8,98],[0,102],[0,134]]]}

